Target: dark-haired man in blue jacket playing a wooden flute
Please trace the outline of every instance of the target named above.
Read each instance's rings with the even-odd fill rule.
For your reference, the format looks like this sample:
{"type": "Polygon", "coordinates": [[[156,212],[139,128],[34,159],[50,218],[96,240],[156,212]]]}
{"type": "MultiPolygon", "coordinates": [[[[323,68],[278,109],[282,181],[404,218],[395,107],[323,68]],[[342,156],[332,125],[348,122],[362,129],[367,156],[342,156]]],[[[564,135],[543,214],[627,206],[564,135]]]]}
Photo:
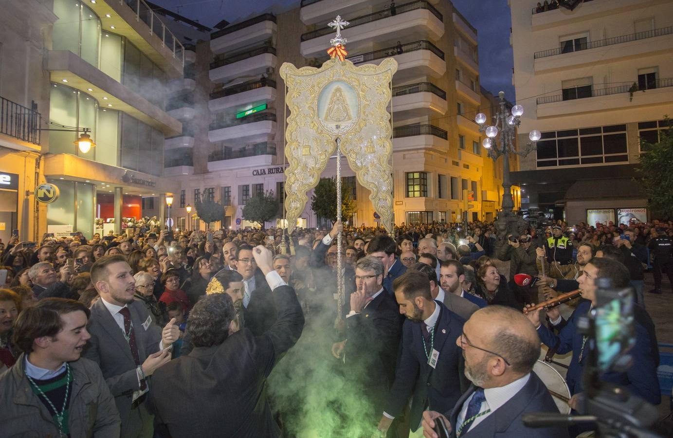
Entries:
{"type": "MultiPolygon", "coordinates": [[[[582,373],[584,362],[581,357],[586,356],[583,353],[583,346],[586,346],[586,338],[577,330],[577,322],[581,316],[585,316],[593,305],[596,305],[596,279],[609,278],[612,285],[617,289],[623,289],[630,285],[629,270],[623,264],[610,260],[608,258],[594,257],[584,266],[582,275],[577,279],[582,291],[582,300],[577,308],[565,321],[559,314],[558,309],[549,309],[546,314],[551,320],[553,326],[561,327],[559,335],[555,335],[550,328],[540,324],[540,312],[530,312],[527,314],[530,321],[538,330],[540,339],[550,348],[559,344],[557,354],[573,352],[566,380],[573,398],[571,398],[571,407],[575,408],[577,397],[575,394],[582,392],[582,373]]],[[[635,316],[635,345],[629,351],[633,357],[633,365],[625,373],[604,373],[601,376],[603,381],[624,386],[635,396],[646,400],[651,404],[661,402],[659,381],[657,378],[657,367],[659,366],[659,349],[657,338],[654,332],[654,324],[649,318],[645,309],[640,306],[634,306],[635,316]]]]}

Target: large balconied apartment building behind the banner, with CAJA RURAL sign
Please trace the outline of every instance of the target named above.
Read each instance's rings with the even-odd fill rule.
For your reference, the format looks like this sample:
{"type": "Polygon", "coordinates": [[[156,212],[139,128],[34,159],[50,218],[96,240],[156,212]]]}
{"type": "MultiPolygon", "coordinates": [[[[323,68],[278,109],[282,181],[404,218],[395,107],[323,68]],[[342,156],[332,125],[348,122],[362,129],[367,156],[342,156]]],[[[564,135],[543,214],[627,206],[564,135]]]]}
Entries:
{"type": "MultiPolygon", "coordinates": [[[[194,175],[181,177],[181,198],[187,204],[201,196],[221,201],[223,227],[254,225],[242,218],[242,208],[256,193],[273,190],[282,202],[285,89],[277,72],[283,62],[322,65],[334,33],[327,23],[337,14],[350,22],[342,32],[350,61],[398,61],[392,84],[396,223],[460,220],[463,190],[474,193],[470,220],[493,219],[501,205],[502,164],[486,156],[473,119],[477,112],[490,116],[497,104],[479,84],[476,29],[452,3],[438,0],[392,9],[380,0],[303,0],[298,8],[213,32],[211,152],[202,157],[205,170],[194,155],[194,175]]],[[[323,177],[336,174],[335,160],[323,177]]],[[[357,203],[353,223],[376,225],[369,192],[357,184],[345,159],[342,176],[357,203]]],[[[298,225],[324,223],[307,205],[298,225]]]]}

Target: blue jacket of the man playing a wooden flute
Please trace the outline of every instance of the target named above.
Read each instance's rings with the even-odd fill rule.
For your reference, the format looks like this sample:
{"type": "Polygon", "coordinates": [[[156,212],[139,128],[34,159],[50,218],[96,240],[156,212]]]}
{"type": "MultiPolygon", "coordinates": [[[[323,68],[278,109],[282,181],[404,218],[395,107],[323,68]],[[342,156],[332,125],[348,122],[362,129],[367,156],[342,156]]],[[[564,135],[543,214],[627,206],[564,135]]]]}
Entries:
{"type": "MultiPolygon", "coordinates": [[[[569,320],[559,330],[558,336],[544,325],[538,328],[540,340],[549,348],[553,348],[559,342],[557,354],[563,355],[569,351],[573,352],[573,357],[568,367],[566,381],[571,394],[582,392],[582,372],[583,363],[579,363],[579,352],[582,349],[583,336],[577,332],[577,320],[581,316],[588,314],[591,307],[591,301],[583,299],[577,305],[575,312],[569,320]]],[[[659,349],[657,338],[654,334],[654,324],[643,309],[639,306],[634,309],[635,312],[635,346],[629,352],[633,357],[633,365],[626,373],[604,373],[601,376],[602,381],[629,388],[631,393],[637,397],[643,398],[652,404],[661,402],[659,390],[659,381],[657,379],[657,367],[659,366],[659,349]]],[[[588,348],[588,344],[585,346],[588,348]]],[[[586,351],[584,354],[586,357],[586,351]]]]}

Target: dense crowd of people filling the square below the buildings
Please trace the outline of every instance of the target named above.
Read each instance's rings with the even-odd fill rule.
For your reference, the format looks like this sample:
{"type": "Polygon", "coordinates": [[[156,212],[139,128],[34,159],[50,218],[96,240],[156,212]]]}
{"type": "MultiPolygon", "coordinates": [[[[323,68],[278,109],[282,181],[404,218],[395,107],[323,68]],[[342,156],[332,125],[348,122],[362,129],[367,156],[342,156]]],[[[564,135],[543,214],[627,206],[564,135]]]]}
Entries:
{"type": "Polygon", "coordinates": [[[10,436],[299,436],[291,423],[302,400],[268,396],[267,378],[304,350],[297,340],[322,332],[328,344],[310,348],[327,349],[330,370],[363,401],[361,436],[435,437],[444,421],[457,436],[564,437],[565,426],[521,421],[557,412],[532,367],[541,342],[572,352],[569,404],[578,406],[586,336],[577,324],[600,278],[633,287],[637,303],[635,365],[601,379],[660,403],[643,285],[647,269],[649,292],[662,293],[662,274],[673,284],[671,221],[558,221],[518,235],[476,221],[403,223],[396,238],[341,223],[291,236],[143,231],[0,243],[0,423],[10,436]],[[582,296],[565,314],[522,312],[575,289],[582,296]]]}

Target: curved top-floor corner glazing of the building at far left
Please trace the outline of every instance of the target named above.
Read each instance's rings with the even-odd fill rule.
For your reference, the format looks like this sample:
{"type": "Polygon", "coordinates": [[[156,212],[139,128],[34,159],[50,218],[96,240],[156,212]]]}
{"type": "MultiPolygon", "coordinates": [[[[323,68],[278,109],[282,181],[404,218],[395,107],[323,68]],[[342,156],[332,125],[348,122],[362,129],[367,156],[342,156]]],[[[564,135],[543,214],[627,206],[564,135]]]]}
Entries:
{"type": "Polygon", "coordinates": [[[98,15],[79,0],[54,0],[52,48],[70,50],[87,63],[98,67],[100,20],[98,15]]]}

